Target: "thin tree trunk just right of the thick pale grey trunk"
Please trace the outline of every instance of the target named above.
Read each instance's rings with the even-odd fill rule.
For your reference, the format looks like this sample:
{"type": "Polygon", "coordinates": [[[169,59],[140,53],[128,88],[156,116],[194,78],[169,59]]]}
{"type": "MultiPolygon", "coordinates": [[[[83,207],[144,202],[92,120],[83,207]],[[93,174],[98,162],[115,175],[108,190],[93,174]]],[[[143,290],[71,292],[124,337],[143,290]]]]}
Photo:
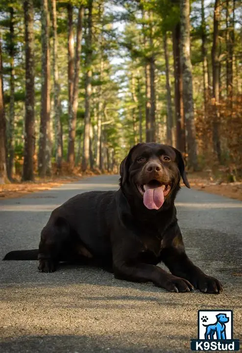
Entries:
{"type": "Polygon", "coordinates": [[[207,105],[209,102],[209,76],[208,76],[208,59],[207,59],[207,31],[204,14],[204,0],[201,0],[201,15],[202,15],[202,69],[203,69],[203,98],[204,98],[204,114],[207,115],[207,105]]]}

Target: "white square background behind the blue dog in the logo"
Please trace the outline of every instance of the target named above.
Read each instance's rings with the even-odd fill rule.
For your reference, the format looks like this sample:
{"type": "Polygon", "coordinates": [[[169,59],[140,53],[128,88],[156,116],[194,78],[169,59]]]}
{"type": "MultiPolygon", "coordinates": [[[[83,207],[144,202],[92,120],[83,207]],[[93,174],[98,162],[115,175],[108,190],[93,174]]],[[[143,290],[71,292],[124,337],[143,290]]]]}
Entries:
{"type": "MultiPolygon", "coordinates": [[[[225,323],[226,327],[226,339],[232,339],[232,313],[229,310],[215,310],[215,311],[210,311],[210,310],[199,310],[198,312],[198,338],[199,339],[205,339],[204,334],[206,332],[206,327],[204,325],[213,325],[215,324],[218,319],[216,315],[218,314],[225,314],[227,318],[229,318],[229,321],[225,323]],[[207,317],[208,320],[205,322],[202,321],[202,317],[207,317]]],[[[217,339],[216,334],[214,335],[214,339],[217,339]]]]}

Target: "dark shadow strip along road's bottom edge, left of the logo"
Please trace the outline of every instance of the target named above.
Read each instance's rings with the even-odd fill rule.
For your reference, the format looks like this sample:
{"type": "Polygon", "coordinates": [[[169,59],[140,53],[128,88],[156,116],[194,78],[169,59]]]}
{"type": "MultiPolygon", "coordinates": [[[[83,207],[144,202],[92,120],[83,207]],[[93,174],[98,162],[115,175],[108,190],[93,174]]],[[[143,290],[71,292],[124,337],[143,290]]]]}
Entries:
{"type": "MultiPolygon", "coordinates": [[[[132,337],[132,335],[131,335],[132,337]]],[[[167,338],[166,338],[167,340],[167,338]]],[[[164,341],[166,341],[164,340],[164,341]]],[[[188,337],[186,336],[170,336],[169,340],[175,340],[180,347],[172,349],[172,352],[187,352],[188,337]],[[185,347],[184,347],[185,346],[185,347]],[[186,347],[187,346],[187,347],[186,347]]],[[[2,353],[19,352],[28,353],[170,353],[170,349],[161,346],[152,346],[137,342],[137,337],[133,336],[130,340],[130,334],[127,336],[117,335],[110,337],[109,335],[85,336],[85,335],[46,335],[46,336],[20,336],[17,338],[9,338],[0,343],[0,351],[2,353]],[[127,340],[129,336],[129,340],[127,340]]]]}

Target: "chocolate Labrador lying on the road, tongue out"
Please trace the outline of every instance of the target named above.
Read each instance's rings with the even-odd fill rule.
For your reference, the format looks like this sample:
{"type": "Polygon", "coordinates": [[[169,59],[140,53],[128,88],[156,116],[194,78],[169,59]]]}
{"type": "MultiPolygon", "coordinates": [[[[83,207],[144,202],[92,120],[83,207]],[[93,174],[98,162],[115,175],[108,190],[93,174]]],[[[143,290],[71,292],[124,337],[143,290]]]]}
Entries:
{"type": "Polygon", "coordinates": [[[221,293],[218,279],[185,252],[174,206],[180,178],[190,188],[178,150],[137,144],[121,162],[118,191],[74,196],[51,213],[39,250],[9,252],[4,260],[38,257],[40,272],[54,272],[62,261],[94,263],[116,278],[150,281],[170,292],[221,293]],[[161,261],[170,273],[156,266],[161,261]]]}

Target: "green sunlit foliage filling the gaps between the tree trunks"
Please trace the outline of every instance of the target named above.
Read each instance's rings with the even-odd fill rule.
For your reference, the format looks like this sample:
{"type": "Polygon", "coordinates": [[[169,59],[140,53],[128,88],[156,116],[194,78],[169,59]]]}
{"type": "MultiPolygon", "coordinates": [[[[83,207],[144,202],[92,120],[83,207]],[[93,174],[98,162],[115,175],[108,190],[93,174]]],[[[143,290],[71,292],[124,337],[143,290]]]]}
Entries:
{"type": "MultiPolygon", "coordinates": [[[[81,144],[84,133],[85,115],[85,74],[92,70],[91,123],[94,135],[97,134],[97,115],[102,119],[103,149],[109,148],[116,153],[117,163],[121,161],[128,148],[139,142],[139,128],[142,128],[142,140],[145,141],[145,65],[155,60],[156,126],[158,137],[165,134],[167,115],[167,90],[165,76],[165,58],[163,36],[167,33],[169,51],[169,73],[172,104],[174,105],[173,52],[171,33],[180,19],[179,1],[171,0],[94,0],[93,1],[93,43],[86,45],[87,5],[90,0],[58,0],[57,2],[57,64],[59,70],[61,124],[63,126],[64,155],[67,154],[69,135],[68,116],[68,18],[67,6],[73,6],[73,30],[76,38],[77,12],[81,4],[85,7],[83,21],[83,40],[78,83],[78,110],[76,124],[76,151],[79,137],[81,144]],[[115,6],[116,5],[116,6],[115,6]],[[92,49],[92,63],[86,65],[87,53],[92,49]],[[100,108],[101,107],[101,108],[100,108]],[[101,109],[99,112],[98,109],[101,109]],[[141,121],[140,121],[141,120],[141,121]],[[141,123],[141,124],[140,124],[141,123]]],[[[41,112],[41,0],[34,0],[34,37],[35,37],[35,121],[36,141],[39,140],[41,112]]],[[[203,68],[201,53],[201,35],[206,34],[209,74],[212,76],[211,48],[213,40],[213,6],[206,4],[206,25],[201,25],[200,1],[191,2],[191,54],[193,64],[194,102],[196,111],[203,111],[203,68]]],[[[51,6],[49,6],[51,9],[51,6]]],[[[241,92],[241,4],[236,2],[234,71],[236,79],[234,89],[241,92]],[[236,81],[237,80],[237,81],[236,81]]],[[[50,16],[51,18],[51,16],[50,16]]],[[[3,61],[4,102],[7,123],[9,121],[10,102],[10,52],[14,55],[15,78],[15,153],[23,156],[24,141],[24,101],[25,101],[25,43],[23,1],[0,0],[0,27],[3,61]],[[14,9],[14,37],[10,37],[10,9],[14,9]]],[[[74,39],[75,41],[76,39],[74,39]]],[[[50,28],[50,58],[53,62],[53,33],[50,28]]],[[[220,94],[226,98],[226,8],[221,6],[220,23],[220,94]]],[[[211,88],[211,87],[210,87],[211,88]]],[[[51,71],[51,119],[54,116],[53,72],[51,71]]],[[[173,109],[174,110],[174,109],[173,109]]],[[[199,115],[199,114],[198,114],[199,115]]],[[[202,121],[202,118],[199,118],[202,121]]],[[[199,121],[200,121],[199,120],[199,121]]],[[[52,128],[54,130],[54,128],[52,128]]],[[[94,136],[94,140],[96,135],[94,136]]],[[[225,144],[225,142],[223,142],[225,144]]],[[[82,146],[82,145],[81,145],[82,146]]],[[[38,149],[38,144],[36,144],[38,149]]],[[[95,144],[93,150],[95,150],[95,144]]],[[[229,152],[226,152],[229,156],[229,152]]],[[[224,155],[226,154],[224,153],[224,155]]],[[[53,151],[54,155],[54,151],[53,151]]],[[[200,163],[205,159],[199,155],[200,163]]]]}

